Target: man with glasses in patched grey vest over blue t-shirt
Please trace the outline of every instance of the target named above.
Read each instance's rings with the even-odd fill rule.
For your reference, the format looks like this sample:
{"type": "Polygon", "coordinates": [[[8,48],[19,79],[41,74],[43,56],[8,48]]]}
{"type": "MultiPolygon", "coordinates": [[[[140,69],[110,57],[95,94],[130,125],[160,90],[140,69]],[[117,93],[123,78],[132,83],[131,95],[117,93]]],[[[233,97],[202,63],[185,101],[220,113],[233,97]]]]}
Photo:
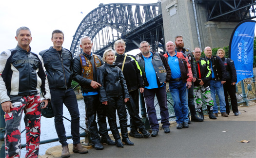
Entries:
{"type": "Polygon", "coordinates": [[[144,80],[144,98],[147,106],[150,126],[152,129],[151,136],[156,137],[159,131],[157,112],[155,109],[154,98],[157,95],[160,107],[161,124],[164,133],[170,133],[169,112],[167,108],[166,82],[171,78],[171,69],[164,58],[158,52],[150,52],[149,43],[143,41],[139,44],[141,53],[136,55],[136,60],[142,71],[144,80]]]}

